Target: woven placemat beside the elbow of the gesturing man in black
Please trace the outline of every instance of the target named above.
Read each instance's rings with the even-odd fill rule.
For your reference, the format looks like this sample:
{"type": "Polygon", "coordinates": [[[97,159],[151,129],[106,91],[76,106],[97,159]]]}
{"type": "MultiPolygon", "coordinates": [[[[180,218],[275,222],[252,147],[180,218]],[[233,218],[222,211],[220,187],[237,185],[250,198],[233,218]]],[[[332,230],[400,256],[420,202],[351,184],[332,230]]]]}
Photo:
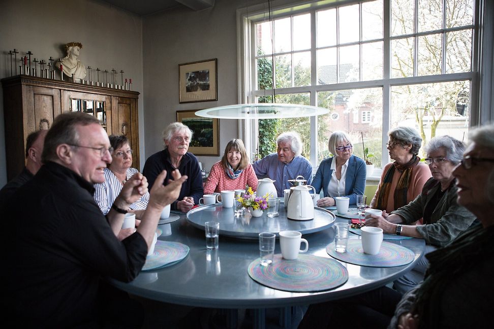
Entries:
{"type": "Polygon", "coordinates": [[[155,252],[147,256],[142,271],[172,265],[185,258],[189,254],[189,250],[189,246],[183,243],[158,240],[155,245],[155,252]]]}

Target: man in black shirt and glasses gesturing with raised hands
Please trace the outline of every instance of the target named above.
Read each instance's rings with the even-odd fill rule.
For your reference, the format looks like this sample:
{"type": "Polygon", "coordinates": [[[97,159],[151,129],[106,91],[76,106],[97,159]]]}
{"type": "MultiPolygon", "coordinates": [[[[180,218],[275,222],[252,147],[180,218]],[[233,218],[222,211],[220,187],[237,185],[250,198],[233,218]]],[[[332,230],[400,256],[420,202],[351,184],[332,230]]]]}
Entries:
{"type": "Polygon", "coordinates": [[[147,180],[132,176],[103,216],[92,198],[93,184],[104,181],[112,159],[98,119],[81,112],[59,115],[46,135],[42,160],[6,209],[9,220],[0,239],[8,268],[2,271],[4,311],[16,327],[140,327],[139,307],[103,279],[129,282],[139,274],[161,211],[177,198],[187,176],[175,171],[175,180],[163,186],[161,173],[137,232],[119,241],[126,209],[147,192],[147,180]]]}

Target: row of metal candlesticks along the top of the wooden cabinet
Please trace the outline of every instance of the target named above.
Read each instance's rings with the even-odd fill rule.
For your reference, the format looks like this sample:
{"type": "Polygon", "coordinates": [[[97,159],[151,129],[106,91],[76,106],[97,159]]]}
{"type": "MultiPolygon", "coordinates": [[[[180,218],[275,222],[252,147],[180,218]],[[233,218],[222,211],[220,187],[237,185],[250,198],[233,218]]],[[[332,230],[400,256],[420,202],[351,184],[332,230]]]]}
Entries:
{"type": "MultiPolygon", "coordinates": [[[[9,55],[10,55],[10,75],[17,75],[17,65],[15,63],[17,63],[17,54],[19,52],[17,51],[17,49],[14,49],[13,51],[10,50],[9,51],[9,55]],[[12,67],[12,55],[14,55],[14,69],[12,67]]],[[[54,70],[54,67],[53,67],[53,61],[55,61],[56,59],[54,59],[53,57],[50,56],[50,58],[48,59],[49,62],[45,61],[44,59],[41,59],[41,60],[38,60],[38,58],[34,58],[33,62],[34,62],[34,68],[31,67],[31,55],[33,55],[33,53],[31,51],[27,51],[25,53],[25,56],[22,56],[19,61],[21,62],[21,65],[19,65],[19,74],[21,75],[28,75],[28,76],[33,76],[33,77],[38,77],[38,63],[40,64],[40,73],[39,73],[39,77],[40,78],[46,78],[46,79],[53,79],[53,80],[56,80],[57,79],[57,73],[56,71],[54,70]]],[[[93,69],[91,68],[90,66],[88,66],[87,68],[87,72],[88,72],[88,79],[87,80],[84,80],[84,79],[76,79],[74,74],[72,74],[72,78],[69,78],[69,79],[72,79],[72,82],[77,82],[76,80],[80,80],[80,83],[81,84],[85,84],[85,85],[92,85],[92,86],[101,86],[101,87],[107,87],[107,88],[114,88],[114,89],[122,89],[122,90],[132,90],[132,79],[125,79],[125,83],[124,83],[124,71],[123,70],[120,70],[120,72],[112,69],[111,70],[111,74],[113,75],[113,79],[111,82],[108,82],[108,73],[110,73],[110,71],[108,70],[100,70],[100,68],[96,68],[96,69],[93,69]],[[91,80],[91,73],[93,75],[93,78],[94,78],[94,72],[92,72],[93,70],[96,71],[96,81],[92,81],[91,80]],[[105,74],[105,82],[100,82],[100,71],[102,73],[105,74]],[[121,78],[121,84],[117,84],[116,82],[116,75],[120,73],[120,78],[121,78]]],[[[60,63],[60,81],[64,81],[64,67],[63,67],[63,63],[60,63]]]]}

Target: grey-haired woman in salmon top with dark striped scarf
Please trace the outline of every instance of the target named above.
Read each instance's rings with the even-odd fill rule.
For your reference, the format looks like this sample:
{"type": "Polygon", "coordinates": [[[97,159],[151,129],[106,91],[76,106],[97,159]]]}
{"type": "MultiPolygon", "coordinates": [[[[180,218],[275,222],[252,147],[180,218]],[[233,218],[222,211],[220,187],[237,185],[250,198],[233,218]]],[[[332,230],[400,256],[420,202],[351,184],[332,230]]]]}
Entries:
{"type": "Polygon", "coordinates": [[[389,157],[394,160],[383,168],[379,187],[370,202],[370,208],[385,213],[413,201],[430,178],[430,170],[417,156],[422,143],[417,130],[397,127],[389,131],[386,143],[389,157]]]}

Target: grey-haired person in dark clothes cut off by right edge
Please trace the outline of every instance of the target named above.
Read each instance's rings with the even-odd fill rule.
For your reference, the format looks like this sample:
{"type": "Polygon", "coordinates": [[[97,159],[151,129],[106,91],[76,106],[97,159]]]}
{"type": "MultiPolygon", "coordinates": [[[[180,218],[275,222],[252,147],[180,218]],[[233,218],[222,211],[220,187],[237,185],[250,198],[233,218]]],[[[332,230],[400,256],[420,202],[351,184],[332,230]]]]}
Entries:
{"type": "Polygon", "coordinates": [[[425,255],[430,261],[427,277],[399,302],[390,328],[398,324],[482,328],[492,322],[494,283],[488,278],[494,272],[494,125],[474,129],[469,135],[469,145],[453,176],[458,204],[477,216],[481,225],[425,255]]]}

